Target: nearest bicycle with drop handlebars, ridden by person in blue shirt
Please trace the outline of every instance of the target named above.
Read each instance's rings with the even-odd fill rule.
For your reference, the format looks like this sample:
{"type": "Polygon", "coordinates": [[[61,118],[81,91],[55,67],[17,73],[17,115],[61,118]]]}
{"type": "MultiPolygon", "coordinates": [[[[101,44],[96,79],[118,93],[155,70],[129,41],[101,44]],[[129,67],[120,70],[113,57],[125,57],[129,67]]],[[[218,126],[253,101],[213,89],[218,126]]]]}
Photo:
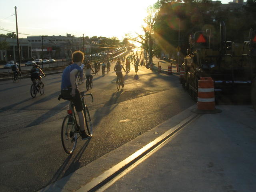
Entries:
{"type": "MultiPolygon", "coordinates": [[[[84,120],[86,124],[86,129],[88,134],[92,136],[92,120],[90,117],[90,113],[88,107],[85,104],[85,96],[91,96],[93,102],[92,93],[84,94],[84,92],[80,92],[80,96],[83,104],[83,112],[84,112],[84,120]]],[[[61,94],[58,98],[60,100],[61,94]]],[[[61,141],[64,151],[67,154],[72,154],[76,148],[76,143],[78,138],[80,137],[80,126],[78,125],[78,120],[76,119],[76,114],[74,112],[74,103],[70,101],[70,110],[68,110],[68,115],[64,118],[61,127],[61,141]]]]}

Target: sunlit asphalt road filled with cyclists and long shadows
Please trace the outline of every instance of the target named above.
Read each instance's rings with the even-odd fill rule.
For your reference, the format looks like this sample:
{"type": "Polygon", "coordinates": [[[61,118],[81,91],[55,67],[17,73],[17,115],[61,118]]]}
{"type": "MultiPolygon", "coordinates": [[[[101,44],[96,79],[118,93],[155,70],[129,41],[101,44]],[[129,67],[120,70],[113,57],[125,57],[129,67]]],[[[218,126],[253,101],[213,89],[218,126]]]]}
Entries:
{"type": "MultiPolygon", "coordinates": [[[[178,75],[158,74],[145,67],[139,67],[136,75],[132,65],[124,90],[117,91],[113,68],[114,63],[110,74],[94,76],[89,90],[94,102],[86,100],[94,135],[86,142],[78,140],[70,156],[60,138],[68,108],[68,101],[57,100],[62,74],[44,78],[45,93],[36,98],[30,96],[29,78],[0,82],[1,191],[39,190],[194,104],[178,75]]],[[[85,90],[85,84],[79,89],[85,90]]]]}

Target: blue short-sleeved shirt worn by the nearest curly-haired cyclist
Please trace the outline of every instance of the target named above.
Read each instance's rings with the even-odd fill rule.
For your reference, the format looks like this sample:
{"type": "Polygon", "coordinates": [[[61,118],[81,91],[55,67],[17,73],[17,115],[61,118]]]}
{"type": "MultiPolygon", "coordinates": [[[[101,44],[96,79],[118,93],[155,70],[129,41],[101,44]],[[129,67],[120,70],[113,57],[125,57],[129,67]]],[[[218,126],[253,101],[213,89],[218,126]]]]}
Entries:
{"type": "MultiPolygon", "coordinates": [[[[60,86],[61,89],[71,87],[70,72],[74,69],[77,69],[80,73],[83,72],[82,68],[78,64],[74,63],[67,66],[62,73],[61,86],[60,86]]],[[[77,76],[78,76],[78,73],[76,74],[76,78],[77,76]]]]}

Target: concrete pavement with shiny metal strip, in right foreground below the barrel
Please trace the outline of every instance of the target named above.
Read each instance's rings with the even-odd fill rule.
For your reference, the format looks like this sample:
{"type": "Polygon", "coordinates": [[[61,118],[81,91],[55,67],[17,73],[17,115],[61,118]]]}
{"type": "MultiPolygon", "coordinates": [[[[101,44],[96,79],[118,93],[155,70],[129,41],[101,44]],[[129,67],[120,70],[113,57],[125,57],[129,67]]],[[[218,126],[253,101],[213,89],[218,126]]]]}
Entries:
{"type": "Polygon", "coordinates": [[[197,115],[196,105],[40,191],[88,191],[177,126],[175,135],[117,174],[101,190],[174,192],[256,191],[256,113],[252,106],[217,106],[197,115]],[[191,122],[186,124],[190,119],[191,122]]]}

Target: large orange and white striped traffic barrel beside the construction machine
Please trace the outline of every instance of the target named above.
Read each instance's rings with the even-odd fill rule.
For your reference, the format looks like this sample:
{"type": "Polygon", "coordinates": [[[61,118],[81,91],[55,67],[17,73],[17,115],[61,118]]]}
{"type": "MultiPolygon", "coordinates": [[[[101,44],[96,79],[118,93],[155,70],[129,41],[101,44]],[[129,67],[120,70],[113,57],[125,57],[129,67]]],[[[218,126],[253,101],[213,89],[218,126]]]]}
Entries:
{"type": "Polygon", "coordinates": [[[221,112],[215,108],[214,81],[212,78],[201,77],[198,80],[197,110],[193,112],[200,114],[221,112]]]}

